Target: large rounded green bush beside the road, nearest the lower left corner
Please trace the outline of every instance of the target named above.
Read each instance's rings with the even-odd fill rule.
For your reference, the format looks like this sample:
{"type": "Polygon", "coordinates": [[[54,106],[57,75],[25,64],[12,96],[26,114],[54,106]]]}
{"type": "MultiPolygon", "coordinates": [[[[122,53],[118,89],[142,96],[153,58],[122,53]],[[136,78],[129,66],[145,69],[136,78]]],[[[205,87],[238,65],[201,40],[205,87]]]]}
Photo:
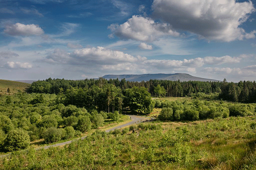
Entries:
{"type": "Polygon", "coordinates": [[[21,129],[15,129],[7,133],[4,149],[9,151],[25,149],[29,146],[29,143],[30,139],[28,133],[21,129]]]}

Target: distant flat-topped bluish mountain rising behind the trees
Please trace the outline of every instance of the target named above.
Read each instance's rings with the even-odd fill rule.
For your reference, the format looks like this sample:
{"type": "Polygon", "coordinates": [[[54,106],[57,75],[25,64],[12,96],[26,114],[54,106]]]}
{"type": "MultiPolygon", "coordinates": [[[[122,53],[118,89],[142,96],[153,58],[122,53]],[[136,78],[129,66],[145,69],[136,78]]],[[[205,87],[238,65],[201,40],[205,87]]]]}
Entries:
{"type": "Polygon", "coordinates": [[[200,77],[194,77],[189,74],[184,73],[175,73],[175,74],[123,74],[123,75],[105,75],[103,76],[105,79],[116,79],[119,80],[125,79],[131,82],[141,82],[141,81],[148,81],[150,79],[158,79],[158,80],[172,80],[177,81],[180,80],[181,82],[187,81],[201,81],[201,82],[220,82],[219,80],[215,79],[204,79],[200,77]]]}

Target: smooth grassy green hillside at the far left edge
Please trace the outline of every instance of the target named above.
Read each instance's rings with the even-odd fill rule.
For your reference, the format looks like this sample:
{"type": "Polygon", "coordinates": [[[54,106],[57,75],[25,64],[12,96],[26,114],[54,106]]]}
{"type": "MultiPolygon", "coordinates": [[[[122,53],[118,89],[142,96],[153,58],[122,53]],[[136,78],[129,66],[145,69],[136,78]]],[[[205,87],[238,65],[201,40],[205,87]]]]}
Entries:
{"type": "Polygon", "coordinates": [[[16,82],[11,80],[0,79],[0,94],[6,94],[7,88],[10,89],[10,93],[17,93],[18,90],[24,91],[30,84],[24,82],[16,82]]]}

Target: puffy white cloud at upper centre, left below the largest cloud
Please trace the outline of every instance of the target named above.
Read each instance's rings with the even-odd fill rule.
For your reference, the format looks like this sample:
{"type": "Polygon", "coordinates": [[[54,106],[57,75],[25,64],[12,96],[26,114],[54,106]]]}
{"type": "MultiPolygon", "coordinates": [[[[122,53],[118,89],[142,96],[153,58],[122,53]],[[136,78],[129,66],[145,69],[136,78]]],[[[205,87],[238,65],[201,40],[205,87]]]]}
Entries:
{"type": "Polygon", "coordinates": [[[139,41],[153,41],[163,35],[179,36],[179,33],[173,31],[169,24],[156,23],[151,18],[138,15],[132,16],[121,25],[111,24],[108,29],[112,31],[109,37],[116,35],[122,39],[139,41]]]}

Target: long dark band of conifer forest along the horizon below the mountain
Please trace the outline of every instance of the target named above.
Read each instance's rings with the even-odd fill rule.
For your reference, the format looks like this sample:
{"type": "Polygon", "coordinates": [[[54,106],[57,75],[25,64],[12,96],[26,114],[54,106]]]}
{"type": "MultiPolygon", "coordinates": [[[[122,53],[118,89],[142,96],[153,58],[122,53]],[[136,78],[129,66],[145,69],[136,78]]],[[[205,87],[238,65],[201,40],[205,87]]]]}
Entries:
{"type": "Polygon", "coordinates": [[[231,102],[255,103],[256,102],[256,82],[240,81],[238,83],[227,82],[200,82],[200,81],[170,81],[170,80],[149,80],[142,82],[129,82],[125,79],[46,79],[33,82],[28,92],[59,94],[65,93],[72,88],[82,88],[85,91],[92,91],[93,88],[103,88],[105,85],[113,85],[121,91],[133,87],[144,87],[151,96],[185,97],[195,96],[198,93],[219,94],[219,99],[231,102]],[[164,90],[163,90],[164,88],[164,90]]]}

